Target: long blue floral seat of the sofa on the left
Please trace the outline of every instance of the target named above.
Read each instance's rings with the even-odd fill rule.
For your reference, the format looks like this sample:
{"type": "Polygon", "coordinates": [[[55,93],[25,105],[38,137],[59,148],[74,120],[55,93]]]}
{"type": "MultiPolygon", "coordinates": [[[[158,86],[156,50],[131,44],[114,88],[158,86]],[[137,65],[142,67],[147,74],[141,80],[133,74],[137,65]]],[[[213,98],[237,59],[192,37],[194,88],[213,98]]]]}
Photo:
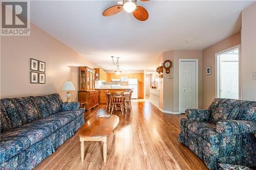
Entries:
{"type": "Polygon", "coordinates": [[[49,136],[81,114],[82,109],[59,112],[1,133],[0,163],[49,136]]]}

